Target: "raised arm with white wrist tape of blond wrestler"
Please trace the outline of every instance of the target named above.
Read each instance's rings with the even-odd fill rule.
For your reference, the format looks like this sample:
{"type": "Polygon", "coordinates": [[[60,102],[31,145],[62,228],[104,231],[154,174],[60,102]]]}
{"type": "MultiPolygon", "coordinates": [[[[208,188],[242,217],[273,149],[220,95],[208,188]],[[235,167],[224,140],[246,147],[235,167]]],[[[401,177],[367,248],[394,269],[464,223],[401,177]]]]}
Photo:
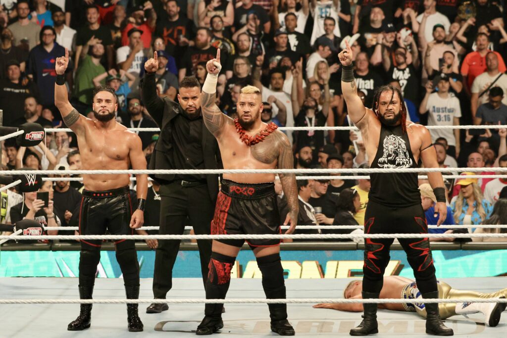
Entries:
{"type": "Polygon", "coordinates": [[[204,81],[204,85],[202,86],[201,93],[201,110],[204,124],[215,137],[220,135],[222,127],[228,123],[233,123],[232,119],[225,115],[215,104],[216,83],[218,82],[221,69],[222,65],[220,64],[219,48],[216,50],[216,58],[211,59],[206,63],[208,75],[206,76],[206,81],[204,81]]]}

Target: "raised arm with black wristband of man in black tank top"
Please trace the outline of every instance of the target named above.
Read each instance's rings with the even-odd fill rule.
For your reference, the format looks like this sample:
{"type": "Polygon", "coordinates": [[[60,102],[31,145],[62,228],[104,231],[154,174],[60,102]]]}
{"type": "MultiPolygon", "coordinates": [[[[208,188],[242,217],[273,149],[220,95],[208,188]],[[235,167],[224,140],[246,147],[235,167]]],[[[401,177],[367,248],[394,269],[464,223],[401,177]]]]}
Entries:
{"type": "Polygon", "coordinates": [[[367,114],[365,105],[357,95],[355,85],[354,70],[352,66],[352,49],[348,41],[345,40],[345,50],[338,54],[342,63],[342,92],[345,102],[347,102],[348,115],[354,124],[357,124],[367,114]]]}

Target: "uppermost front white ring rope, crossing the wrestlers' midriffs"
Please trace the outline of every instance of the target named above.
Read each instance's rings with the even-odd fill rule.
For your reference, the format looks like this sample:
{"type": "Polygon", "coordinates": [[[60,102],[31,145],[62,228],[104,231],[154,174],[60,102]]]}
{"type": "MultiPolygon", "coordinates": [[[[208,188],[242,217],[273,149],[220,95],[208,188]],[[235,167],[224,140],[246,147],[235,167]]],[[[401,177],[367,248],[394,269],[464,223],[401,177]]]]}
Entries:
{"type": "MultiPolygon", "coordinates": [[[[0,170],[0,175],[24,175],[24,174],[39,174],[39,175],[118,175],[118,174],[297,174],[297,173],[393,173],[393,172],[507,172],[507,168],[502,167],[481,167],[481,168],[350,168],[350,169],[154,169],[154,170],[0,170]]],[[[462,176],[460,178],[465,178],[462,176]]]]}

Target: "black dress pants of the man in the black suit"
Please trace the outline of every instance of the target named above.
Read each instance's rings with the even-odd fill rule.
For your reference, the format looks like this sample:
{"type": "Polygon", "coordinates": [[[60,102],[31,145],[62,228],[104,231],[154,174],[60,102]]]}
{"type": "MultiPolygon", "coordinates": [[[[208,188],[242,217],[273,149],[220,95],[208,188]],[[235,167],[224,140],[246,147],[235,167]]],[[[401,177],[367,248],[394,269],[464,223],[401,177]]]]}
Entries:
{"type": "MultiPolygon", "coordinates": [[[[209,235],[214,203],[206,184],[184,187],[178,183],[160,187],[160,235],[182,235],[187,218],[196,235],[209,235]]],[[[172,288],[172,268],[179,251],[180,240],[159,240],[155,253],[153,295],[165,298],[172,288]]],[[[203,283],[206,283],[211,257],[211,240],[198,240],[203,283]]]]}

